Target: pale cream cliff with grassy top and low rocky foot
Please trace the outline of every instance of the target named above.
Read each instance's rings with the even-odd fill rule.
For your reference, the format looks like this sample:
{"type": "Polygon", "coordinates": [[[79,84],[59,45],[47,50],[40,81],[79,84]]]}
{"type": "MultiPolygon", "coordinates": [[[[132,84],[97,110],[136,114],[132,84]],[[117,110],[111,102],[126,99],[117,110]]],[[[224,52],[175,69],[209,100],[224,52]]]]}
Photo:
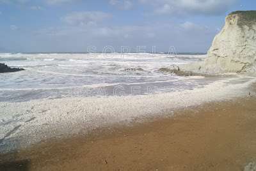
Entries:
{"type": "Polygon", "coordinates": [[[166,70],[178,70],[181,75],[244,73],[256,77],[256,11],[230,13],[202,63],[180,64],[166,70]]]}

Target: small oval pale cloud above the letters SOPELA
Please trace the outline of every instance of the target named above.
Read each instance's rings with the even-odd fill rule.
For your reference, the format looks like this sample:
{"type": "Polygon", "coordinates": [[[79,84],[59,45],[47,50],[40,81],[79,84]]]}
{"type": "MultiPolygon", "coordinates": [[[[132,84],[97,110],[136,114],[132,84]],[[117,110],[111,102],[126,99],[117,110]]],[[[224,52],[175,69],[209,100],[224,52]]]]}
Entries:
{"type": "Polygon", "coordinates": [[[71,26],[98,26],[112,17],[113,15],[100,11],[79,11],[61,17],[60,20],[71,26]]]}

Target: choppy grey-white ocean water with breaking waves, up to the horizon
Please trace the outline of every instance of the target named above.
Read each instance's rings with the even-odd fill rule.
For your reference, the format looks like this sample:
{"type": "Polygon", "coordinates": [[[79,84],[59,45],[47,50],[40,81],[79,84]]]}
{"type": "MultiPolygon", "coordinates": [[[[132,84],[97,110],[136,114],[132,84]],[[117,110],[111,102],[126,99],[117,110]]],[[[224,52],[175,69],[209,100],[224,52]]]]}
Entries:
{"type": "Polygon", "coordinates": [[[122,56],[116,53],[111,58],[104,54],[94,55],[0,54],[0,63],[26,70],[1,75],[0,101],[63,96],[125,96],[156,93],[164,91],[164,87],[168,87],[168,91],[180,91],[207,84],[207,80],[203,81],[202,77],[177,77],[159,71],[171,64],[200,62],[206,54],[138,56],[131,53],[122,56]]]}

